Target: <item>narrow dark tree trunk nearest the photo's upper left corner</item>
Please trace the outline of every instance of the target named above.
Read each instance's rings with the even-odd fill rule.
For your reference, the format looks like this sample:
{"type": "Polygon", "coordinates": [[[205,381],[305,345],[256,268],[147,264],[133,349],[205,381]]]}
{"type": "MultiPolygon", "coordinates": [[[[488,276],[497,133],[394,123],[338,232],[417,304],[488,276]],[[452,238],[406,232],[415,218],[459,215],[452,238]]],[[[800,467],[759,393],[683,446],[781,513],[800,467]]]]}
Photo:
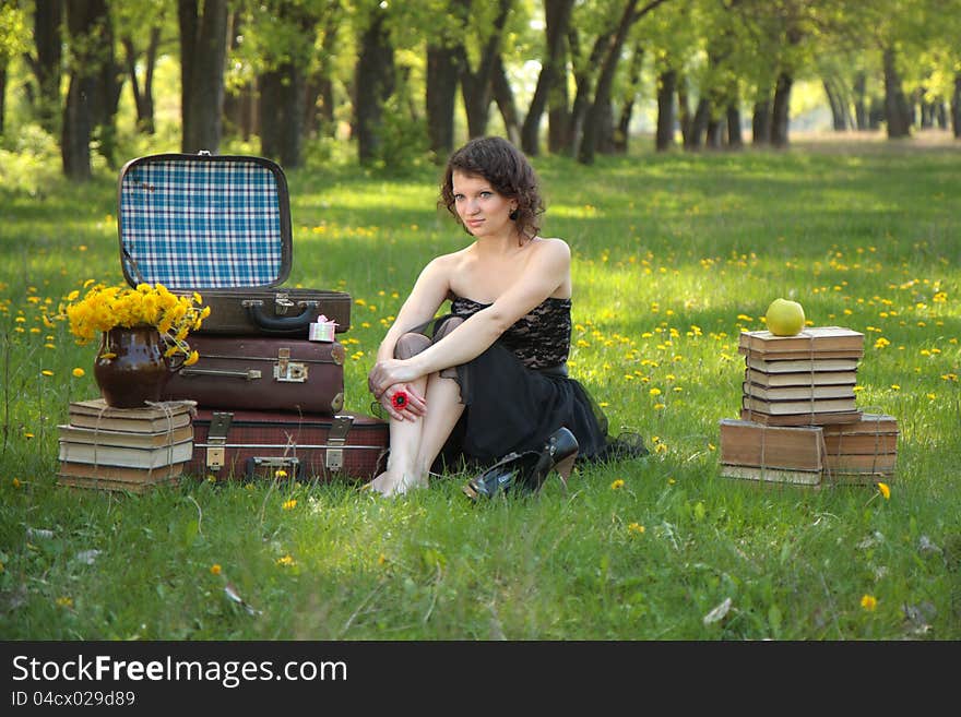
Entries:
{"type": "MultiPolygon", "coordinates": [[[[27,58],[37,83],[36,95],[31,97],[37,121],[47,132],[55,135],[58,131],[60,112],[63,11],[64,0],[35,0],[34,43],[37,57],[27,58]]],[[[81,12],[83,12],[82,8],[74,9],[74,13],[81,12]]]]}

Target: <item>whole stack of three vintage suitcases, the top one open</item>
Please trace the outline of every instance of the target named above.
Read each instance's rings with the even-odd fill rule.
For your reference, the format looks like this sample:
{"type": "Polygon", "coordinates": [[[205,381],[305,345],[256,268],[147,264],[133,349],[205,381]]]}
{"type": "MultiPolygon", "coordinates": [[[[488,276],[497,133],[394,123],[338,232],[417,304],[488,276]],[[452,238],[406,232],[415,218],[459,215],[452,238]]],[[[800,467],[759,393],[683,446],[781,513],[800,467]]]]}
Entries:
{"type": "Polygon", "coordinates": [[[385,421],[344,411],[351,296],[283,286],[293,265],[289,195],[262,157],[161,154],[120,172],[120,263],[131,286],[199,292],[211,314],[188,338],[200,360],[167,401],[195,401],[189,473],[215,478],[368,480],[385,421]]]}

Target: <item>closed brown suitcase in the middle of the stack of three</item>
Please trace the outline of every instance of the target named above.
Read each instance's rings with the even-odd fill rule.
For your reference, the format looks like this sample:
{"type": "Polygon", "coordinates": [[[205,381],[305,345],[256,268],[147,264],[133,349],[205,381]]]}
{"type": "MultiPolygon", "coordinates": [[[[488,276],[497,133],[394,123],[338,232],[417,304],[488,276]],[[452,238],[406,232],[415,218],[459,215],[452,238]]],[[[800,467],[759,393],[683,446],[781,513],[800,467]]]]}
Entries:
{"type": "Polygon", "coordinates": [[[174,372],[164,401],[201,408],[332,416],[344,407],[344,347],[339,342],[190,335],[200,360],[174,372]]]}

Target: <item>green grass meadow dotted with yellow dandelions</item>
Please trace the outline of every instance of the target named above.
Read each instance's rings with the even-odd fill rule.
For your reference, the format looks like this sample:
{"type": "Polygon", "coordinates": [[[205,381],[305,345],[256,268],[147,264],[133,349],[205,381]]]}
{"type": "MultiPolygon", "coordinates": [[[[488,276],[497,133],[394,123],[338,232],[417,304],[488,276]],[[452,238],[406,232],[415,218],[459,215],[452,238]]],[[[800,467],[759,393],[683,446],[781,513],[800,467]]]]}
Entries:
{"type": "MultiPolygon", "coordinates": [[[[3,159],[4,638],[961,637],[957,143],[538,158],[544,234],[574,254],[571,371],[653,451],[583,469],[567,492],[476,506],[464,475],[400,500],[194,479],[140,497],[58,488],[56,427],[97,395],[94,348],[59,306],[87,278],[122,280],[116,176],[75,187],[50,163],[3,159]],[[779,296],[865,333],[858,405],[901,431],[889,500],[719,476],[737,336],[779,296]]],[[[355,299],[348,409],[369,410],[367,370],[417,271],[467,240],[435,208],[436,179],[288,172],[289,284],[355,299]]]]}

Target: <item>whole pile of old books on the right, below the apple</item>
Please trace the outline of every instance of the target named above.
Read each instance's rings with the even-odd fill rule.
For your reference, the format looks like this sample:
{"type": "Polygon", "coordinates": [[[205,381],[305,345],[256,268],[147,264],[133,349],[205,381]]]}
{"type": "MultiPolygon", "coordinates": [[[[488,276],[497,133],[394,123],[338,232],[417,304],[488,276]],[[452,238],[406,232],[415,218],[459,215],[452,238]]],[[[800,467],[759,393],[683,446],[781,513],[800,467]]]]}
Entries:
{"type": "Polygon", "coordinates": [[[721,421],[721,475],[819,486],[890,480],[898,422],[855,403],[864,334],[840,326],[795,336],[743,332],[740,419],[721,421]]]}

